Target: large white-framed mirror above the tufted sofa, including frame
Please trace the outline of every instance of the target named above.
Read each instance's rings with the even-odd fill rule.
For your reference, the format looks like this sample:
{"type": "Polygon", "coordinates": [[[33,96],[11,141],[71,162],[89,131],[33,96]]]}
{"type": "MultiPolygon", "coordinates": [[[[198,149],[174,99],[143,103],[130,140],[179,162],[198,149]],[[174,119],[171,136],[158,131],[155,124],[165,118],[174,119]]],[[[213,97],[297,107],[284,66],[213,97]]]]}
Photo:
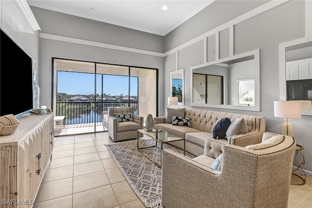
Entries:
{"type": "Polygon", "coordinates": [[[191,105],[260,111],[259,50],[191,67],[191,105]]]}

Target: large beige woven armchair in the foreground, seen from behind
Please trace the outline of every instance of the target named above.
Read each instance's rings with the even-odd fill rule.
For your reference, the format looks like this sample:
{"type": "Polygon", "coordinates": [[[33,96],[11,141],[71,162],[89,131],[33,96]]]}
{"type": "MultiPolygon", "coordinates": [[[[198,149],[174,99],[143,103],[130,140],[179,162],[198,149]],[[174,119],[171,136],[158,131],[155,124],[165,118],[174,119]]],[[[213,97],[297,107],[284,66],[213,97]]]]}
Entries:
{"type": "Polygon", "coordinates": [[[162,205],[165,208],[287,208],[295,146],[292,136],[265,132],[260,144],[245,148],[223,146],[219,170],[164,150],[162,205]]]}

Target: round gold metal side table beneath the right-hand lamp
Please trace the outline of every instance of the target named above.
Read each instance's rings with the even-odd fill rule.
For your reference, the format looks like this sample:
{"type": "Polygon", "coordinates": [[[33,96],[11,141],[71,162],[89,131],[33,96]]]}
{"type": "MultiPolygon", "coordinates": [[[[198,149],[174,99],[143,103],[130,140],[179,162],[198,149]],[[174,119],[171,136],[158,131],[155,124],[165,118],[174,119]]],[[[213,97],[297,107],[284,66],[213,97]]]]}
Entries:
{"type": "Polygon", "coordinates": [[[293,166],[296,168],[292,170],[291,185],[304,185],[306,183],[306,164],[304,160],[304,148],[301,145],[296,146],[294,156],[298,156],[301,160],[300,164],[293,160],[293,166]],[[298,182],[299,181],[299,182],[298,182]]]}

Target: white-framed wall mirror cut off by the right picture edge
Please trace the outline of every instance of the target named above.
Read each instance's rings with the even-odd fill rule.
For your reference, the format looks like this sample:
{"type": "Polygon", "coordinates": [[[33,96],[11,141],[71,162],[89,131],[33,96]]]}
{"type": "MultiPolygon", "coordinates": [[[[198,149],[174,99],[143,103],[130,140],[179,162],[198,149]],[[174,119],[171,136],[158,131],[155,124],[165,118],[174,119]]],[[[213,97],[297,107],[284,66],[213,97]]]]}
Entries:
{"type": "Polygon", "coordinates": [[[279,45],[279,72],[280,100],[300,100],[312,115],[312,36],[279,45]]]}

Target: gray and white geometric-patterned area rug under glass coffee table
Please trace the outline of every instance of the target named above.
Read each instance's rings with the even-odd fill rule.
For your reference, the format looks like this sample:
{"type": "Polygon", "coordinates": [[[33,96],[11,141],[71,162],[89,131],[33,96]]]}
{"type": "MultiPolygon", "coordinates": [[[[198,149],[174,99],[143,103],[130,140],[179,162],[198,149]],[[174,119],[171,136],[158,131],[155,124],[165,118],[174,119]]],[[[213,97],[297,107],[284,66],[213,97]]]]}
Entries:
{"type": "MultiPolygon", "coordinates": [[[[155,140],[153,139],[139,140],[139,147],[154,145],[155,140]]],[[[161,169],[137,150],[137,140],[122,141],[106,146],[122,175],[143,205],[147,208],[162,208],[161,169]]],[[[170,144],[163,144],[163,149],[183,152],[170,144]]],[[[144,149],[144,152],[160,164],[160,144],[157,147],[144,149]]],[[[186,156],[195,157],[187,152],[186,156]]]]}

